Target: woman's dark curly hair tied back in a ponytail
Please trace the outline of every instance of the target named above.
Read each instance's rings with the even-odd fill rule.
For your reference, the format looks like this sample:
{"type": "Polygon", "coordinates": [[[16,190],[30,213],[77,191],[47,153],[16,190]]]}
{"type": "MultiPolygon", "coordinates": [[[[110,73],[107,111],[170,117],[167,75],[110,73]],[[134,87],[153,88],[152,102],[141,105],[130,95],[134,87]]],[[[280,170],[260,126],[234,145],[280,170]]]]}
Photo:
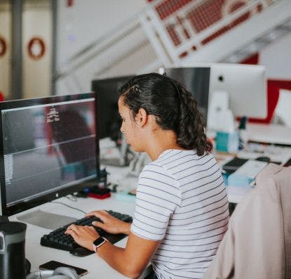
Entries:
{"type": "Polygon", "coordinates": [[[175,131],[177,145],[181,148],[194,149],[200,156],[212,150],[197,102],[179,82],[162,74],[140,74],[124,84],[119,92],[133,119],[140,108],[144,108],[147,114],[156,116],[162,129],[175,131]]]}

